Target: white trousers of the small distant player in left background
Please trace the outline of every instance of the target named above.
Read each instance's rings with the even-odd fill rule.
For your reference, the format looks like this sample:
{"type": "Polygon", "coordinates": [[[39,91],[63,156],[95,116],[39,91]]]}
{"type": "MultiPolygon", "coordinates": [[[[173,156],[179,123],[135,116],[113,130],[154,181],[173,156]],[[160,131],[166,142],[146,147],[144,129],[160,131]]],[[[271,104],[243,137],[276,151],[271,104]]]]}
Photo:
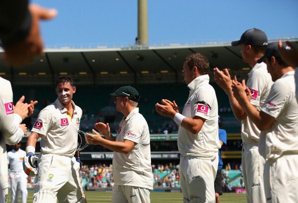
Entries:
{"type": "Polygon", "coordinates": [[[21,193],[21,201],[22,203],[27,203],[27,196],[28,196],[28,190],[27,190],[27,175],[26,173],[22,171],[16,171],[10,173],[11,178],[11,187],[12,187],[12,203],[18,203],[18,187],[20,188],[21,193]]]}

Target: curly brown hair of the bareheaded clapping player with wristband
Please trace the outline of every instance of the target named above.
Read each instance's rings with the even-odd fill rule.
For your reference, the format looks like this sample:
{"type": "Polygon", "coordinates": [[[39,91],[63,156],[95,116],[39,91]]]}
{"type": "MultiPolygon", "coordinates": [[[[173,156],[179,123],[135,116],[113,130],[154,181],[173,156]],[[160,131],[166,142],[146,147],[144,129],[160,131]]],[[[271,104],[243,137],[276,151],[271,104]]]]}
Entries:
{"type": "Polygon", "coordinates": [[[193,70],[196,66],[201,75],[208,74],[209,71],[209,61],[207,57],[203,56],[200,53],[190,54],[185,58],[185,62],[187,63],[188,67],[193,70]]]}

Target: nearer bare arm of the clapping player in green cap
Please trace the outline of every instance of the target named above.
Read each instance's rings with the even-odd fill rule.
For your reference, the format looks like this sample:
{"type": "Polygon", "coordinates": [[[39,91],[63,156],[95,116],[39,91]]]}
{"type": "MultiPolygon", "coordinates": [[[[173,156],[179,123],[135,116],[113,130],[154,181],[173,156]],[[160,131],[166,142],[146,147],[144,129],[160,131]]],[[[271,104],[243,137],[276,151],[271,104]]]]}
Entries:
{"type": "Polygon", "coordinates": [[[111,141],[107,140],[101,137],[101,135],[94,129],[92,129],[92,133],[86,133],[85,138],[87,140],[88,144],[100,144],[104,146],[105,148],[119,152],[119,153],[128,153],[131,151],[131,149],[134,147],[136,144],[133,141],[124,139],[123,142],[118,142],[118,141],[111,141]]]}

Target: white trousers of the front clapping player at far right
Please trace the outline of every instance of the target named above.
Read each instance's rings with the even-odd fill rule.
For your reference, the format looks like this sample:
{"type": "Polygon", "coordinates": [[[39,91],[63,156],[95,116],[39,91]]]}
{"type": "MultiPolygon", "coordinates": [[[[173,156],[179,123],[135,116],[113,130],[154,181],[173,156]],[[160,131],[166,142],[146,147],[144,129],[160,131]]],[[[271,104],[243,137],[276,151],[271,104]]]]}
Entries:
{"type": "Polygon", "coordinates": [[[267,160],[264,183],[266,203],[298,202],[298,155],[267,160]]]}

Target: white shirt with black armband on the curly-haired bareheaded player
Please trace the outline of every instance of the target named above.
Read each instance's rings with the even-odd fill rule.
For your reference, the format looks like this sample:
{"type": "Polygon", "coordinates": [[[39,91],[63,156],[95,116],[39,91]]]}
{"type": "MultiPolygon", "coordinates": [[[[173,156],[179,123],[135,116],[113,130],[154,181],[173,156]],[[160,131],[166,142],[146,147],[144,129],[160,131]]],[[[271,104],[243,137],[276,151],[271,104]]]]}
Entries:
{"type": "Polygon", "coordinates": [[[192,134],[182,126],[178,130],[178,149],[182,155],[192,155],[213,160],[221,147],[218,138],[218,106],[216,94],[209,84],[209,76],[202,75],[189,85],[189,97],[183,115],[188,118],[199,116],[206,119],[198,134],[192,134]]]}

